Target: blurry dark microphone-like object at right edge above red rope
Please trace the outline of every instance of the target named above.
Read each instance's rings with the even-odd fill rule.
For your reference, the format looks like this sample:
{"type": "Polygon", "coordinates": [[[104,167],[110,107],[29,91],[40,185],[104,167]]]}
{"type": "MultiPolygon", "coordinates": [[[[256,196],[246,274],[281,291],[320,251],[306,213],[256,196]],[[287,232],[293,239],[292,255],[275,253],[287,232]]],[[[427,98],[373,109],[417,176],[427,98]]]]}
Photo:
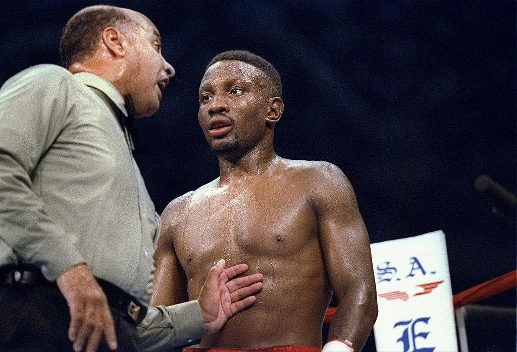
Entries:
{"type": "Polygon", "coordinates": [[[474,182],[474,187],[495,203],[492,213],[503,216],[515,225],[517,199],[513,193],[492,180],[489,175],[479,175],[474,182]]]}

